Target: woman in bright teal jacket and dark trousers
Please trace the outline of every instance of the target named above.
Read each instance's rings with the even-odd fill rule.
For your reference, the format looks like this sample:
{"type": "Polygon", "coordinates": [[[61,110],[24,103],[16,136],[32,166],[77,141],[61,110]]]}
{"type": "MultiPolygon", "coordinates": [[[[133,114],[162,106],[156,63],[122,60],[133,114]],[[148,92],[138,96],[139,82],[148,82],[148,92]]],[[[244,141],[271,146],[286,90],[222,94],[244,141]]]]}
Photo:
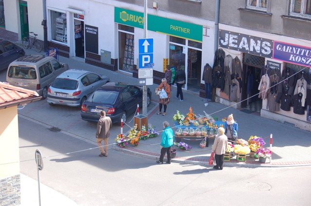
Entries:
{"type": "Polygon", "coordinates": [[[167,154],[167,161],[166,163],[171,164],[171,146],[173,145],[173,129],[170,128],[170,124],[168,121],[163,122],[163,132],[162,132],[162,139],[161,139],[161,155],[160,159],[156,161],[156,163],[163,164],[163,158],[165,153],[167,154]]]}

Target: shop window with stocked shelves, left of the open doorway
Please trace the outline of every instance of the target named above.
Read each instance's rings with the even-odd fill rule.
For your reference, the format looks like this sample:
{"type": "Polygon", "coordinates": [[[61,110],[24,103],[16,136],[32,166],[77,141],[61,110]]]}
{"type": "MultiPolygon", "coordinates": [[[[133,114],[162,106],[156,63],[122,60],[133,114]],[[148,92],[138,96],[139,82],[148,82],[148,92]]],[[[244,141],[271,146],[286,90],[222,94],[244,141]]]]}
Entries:
{"type": "Polygon", "coordinates": [[[67,16],[65,13],[51,11],[52,40],[67,43],[67,16]]]}

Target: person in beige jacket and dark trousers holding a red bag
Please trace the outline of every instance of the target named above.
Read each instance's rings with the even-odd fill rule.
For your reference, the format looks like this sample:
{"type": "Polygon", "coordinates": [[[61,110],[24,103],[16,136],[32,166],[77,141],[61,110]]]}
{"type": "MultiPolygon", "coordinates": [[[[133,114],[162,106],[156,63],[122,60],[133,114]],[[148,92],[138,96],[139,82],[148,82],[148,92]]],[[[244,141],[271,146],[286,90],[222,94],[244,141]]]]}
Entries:
{"type": "Polygon", "coordinates": [[[212,146],[212,152],[215,153],[216,160],[216,165],[213,168],[222,170],[224,168],[224,154],[227,149],[228,139],[225,136],[224,127],[219,127],[218,133],[212,146]]]}

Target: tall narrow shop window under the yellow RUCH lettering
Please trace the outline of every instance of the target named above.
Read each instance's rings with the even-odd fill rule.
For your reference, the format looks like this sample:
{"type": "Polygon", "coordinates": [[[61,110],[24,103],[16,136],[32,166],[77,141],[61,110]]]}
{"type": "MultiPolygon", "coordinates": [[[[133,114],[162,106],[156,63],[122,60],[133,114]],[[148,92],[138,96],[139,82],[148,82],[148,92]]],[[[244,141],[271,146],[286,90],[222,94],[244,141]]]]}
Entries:
{"type": "Polygon", "coordinates": [[[133,73],[134,68],[134,27],[118,25],[119,28],[119,69],[133,73]]]}

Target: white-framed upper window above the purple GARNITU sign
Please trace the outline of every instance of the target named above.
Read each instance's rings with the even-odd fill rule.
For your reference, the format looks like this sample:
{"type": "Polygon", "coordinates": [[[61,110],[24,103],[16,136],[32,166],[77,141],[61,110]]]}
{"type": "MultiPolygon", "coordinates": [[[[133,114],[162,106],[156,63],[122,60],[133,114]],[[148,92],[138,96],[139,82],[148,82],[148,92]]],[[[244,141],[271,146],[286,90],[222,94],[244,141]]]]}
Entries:
{"type": "Polygon", "coordinates": [[[291,0],[290,15],[311,18],[311,0],[291,0]]]}

